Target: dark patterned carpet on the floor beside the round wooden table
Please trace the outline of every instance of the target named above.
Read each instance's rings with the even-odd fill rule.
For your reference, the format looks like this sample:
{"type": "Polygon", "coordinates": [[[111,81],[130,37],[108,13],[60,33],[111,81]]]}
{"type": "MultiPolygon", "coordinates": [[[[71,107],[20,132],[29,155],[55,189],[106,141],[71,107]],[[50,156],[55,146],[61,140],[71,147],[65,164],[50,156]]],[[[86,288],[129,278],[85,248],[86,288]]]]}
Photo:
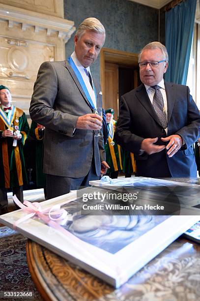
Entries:
{"type": "Polygon", "coordinates": [[[8,227],[0,227],[0,300],[39,300],[40,297],[27,265],[27,239],[8,227]],[[32,292],[32,298],[4,299],[2,292],[32,292]]]}

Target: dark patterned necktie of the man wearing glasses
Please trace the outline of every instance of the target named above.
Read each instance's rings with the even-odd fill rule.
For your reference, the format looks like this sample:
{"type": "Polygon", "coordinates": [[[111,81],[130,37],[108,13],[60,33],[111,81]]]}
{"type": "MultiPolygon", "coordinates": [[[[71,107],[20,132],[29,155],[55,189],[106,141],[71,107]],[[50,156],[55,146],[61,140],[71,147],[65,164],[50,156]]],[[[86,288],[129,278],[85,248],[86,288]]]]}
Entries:
{"type": "Polygon", "coordinates": [[[163,95],[161,93],[160,87],[158,85],[152,86],[151,88],[155,89],[155,93],[153,95],[153,108],[164,128],[168,126],[167,115],[164,110],[164,100],[163,95]]]}

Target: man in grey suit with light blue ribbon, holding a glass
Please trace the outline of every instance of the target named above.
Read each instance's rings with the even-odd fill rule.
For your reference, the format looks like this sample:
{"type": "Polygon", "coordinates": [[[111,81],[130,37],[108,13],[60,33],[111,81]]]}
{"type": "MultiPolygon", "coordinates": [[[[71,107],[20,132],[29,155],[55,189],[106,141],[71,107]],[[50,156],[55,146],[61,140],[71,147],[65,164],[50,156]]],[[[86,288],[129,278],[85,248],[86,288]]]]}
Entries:
{"type": "Polygon", "coordinates": [[[30,117],[45,126],[43,172],[47,199],[87,186],[105,174],[103,137],[95,137],[102,118],[102,93],[90,74],[105,41],[99,20],[87,18],[79,26],[75,51],[66,61],[44,62],[39,68],[30,103],[30,117]]]}

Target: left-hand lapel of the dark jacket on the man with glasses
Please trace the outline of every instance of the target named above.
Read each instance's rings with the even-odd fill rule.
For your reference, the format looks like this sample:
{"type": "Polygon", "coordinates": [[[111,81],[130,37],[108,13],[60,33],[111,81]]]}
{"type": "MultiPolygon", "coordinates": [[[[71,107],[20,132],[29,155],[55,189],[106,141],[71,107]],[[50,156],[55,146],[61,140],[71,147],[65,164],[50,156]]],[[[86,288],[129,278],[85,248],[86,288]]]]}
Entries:
{"type": "Polygon", "coordinates": [[[136,97],[141,102],[145,110],[151,115],[151,117],[162,126],[143,84],[137,88],[136,97]]]}

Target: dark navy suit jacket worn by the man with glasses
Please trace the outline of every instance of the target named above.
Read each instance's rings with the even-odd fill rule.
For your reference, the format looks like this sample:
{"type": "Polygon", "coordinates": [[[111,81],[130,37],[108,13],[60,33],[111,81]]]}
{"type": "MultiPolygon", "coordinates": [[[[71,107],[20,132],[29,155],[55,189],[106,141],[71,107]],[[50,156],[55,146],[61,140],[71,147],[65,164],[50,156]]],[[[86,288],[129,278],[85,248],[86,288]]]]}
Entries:
{"type": "Polygon", "coordinates": [[[180,135],[185,145],[171,158],[166,150],[148,155],[139,155],[144,138],[159,140],[166,132],[150,102],[144,85],[131,90],[121,98],[119,119],[114,139],[128,151],[134,152],[137,175],[144,177],[196,177],[192,145],[200,137],[200,113],[190,95],[189,88],[165,82],[168,101],[168,136],[180,135]]]}

